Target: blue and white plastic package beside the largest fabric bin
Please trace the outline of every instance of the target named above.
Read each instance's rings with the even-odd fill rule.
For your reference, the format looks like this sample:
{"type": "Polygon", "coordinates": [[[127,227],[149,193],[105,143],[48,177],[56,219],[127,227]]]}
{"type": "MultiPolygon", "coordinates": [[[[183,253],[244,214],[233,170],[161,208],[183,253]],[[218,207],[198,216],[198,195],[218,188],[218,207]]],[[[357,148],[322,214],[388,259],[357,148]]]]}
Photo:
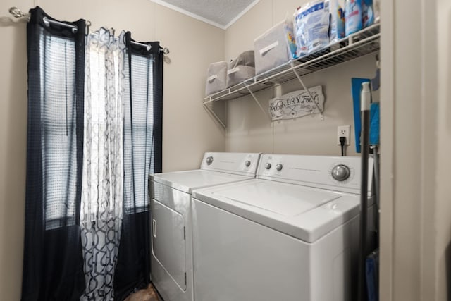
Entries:
{"type": "Polygon", "coordinates": [[[296,56],[312,54],[328,47],[330,25],[329,0],[314,0],[295,12],[296,56]]]}

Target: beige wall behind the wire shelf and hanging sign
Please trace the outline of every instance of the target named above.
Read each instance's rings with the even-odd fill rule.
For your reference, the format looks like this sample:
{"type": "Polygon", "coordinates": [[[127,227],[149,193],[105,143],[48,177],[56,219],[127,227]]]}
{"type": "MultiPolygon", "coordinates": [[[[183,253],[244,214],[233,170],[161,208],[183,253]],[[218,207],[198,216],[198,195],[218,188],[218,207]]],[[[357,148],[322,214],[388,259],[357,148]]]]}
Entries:
{"type": "MultiPolygon", "coordinates": [[[[276,23],[292,16],[295,8],[307,1],[261,0],[252,10],[226,30],[226,60],[242,51],[253,49],[254,39],[276,23]]],[[[307,87],[323,86],[326,96],[324,120],[305,116],[289,121],[271,123],[252,97],[242,97],[228,104],[227,150],[230,152],[264,152],[277,154],[340,155],[337,126],[351,125],[351,145],[348,155],[356,155],[354,117],[352,111],[351,78],[373,78],[375,55],[371,54],[340,66],[329,68],[303,78],[307,87]]],[[[299,81],[282,86],[283,93],[302,90],[299,81]]],[[[271,89],[256,93],[264,109],[273,97],[271,89]]],[[[378,95],[375,95],[378,99],[378,95]]]]}

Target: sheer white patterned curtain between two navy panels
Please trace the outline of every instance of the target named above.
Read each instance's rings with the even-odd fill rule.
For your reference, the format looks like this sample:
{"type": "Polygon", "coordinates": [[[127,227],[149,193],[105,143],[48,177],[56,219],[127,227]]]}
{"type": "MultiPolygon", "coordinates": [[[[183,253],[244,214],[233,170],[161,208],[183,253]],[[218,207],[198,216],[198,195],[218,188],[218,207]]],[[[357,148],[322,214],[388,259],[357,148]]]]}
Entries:
{"type": "Polygon", "coordinates": [[[85,137],[80,226],[85,293],[80,300],[113,300],[123,216],[125,32],[101,28],[85,48],[85,137]]]}

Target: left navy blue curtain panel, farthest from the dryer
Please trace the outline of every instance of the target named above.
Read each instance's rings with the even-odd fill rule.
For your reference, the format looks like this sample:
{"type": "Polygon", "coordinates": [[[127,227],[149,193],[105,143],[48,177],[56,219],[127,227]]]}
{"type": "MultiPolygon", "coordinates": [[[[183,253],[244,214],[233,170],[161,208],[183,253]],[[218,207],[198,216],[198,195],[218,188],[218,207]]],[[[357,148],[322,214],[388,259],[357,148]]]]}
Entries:
{"type": "Polygon", "coordinates": [[[85,20],[27,25],[28,132],[22,300],[78,300],[85,289],[80,244],[85,20]]]}

